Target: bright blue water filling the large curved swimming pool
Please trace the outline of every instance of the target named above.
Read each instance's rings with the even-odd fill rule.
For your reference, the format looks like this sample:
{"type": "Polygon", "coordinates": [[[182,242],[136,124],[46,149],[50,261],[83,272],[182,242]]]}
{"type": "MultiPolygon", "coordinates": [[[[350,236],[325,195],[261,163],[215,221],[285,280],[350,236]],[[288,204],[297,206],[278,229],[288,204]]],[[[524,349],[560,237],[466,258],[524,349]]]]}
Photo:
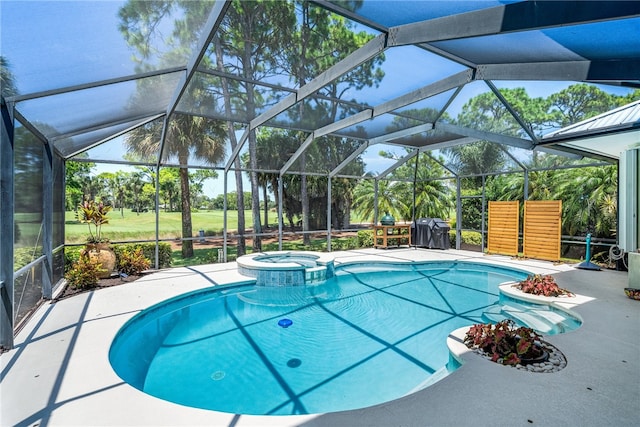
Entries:
{"type": "Polygon", "coordinates": [[[498,285],[524,277],[466,262],[377,263],[340,266],[314,286],[208,289],[135,316],[109,357],[132,386],[192,407],[260,415],[362,408],[455,369],[447,335],[499,316],[498,285]]]}

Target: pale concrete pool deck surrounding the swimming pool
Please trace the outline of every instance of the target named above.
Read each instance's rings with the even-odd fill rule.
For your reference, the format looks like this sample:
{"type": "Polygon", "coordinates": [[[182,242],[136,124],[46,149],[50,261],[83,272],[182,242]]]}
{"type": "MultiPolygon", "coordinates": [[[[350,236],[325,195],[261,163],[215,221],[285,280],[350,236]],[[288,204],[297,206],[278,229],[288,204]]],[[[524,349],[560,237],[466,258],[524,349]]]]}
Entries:
{"type": "Polygon", "coordinates": [[[467,251],[364,249],[354,260],[470,260],[550,273],[584,296],[582,327],[545,337],[567,358],[556,373],[529,373],[474,353],[434,385],[374,407],[304,416],[247,416],[188,408],[148,396],[113,372],[119,328],[140,310],[188,292],[237,282],[235,263],[176,268],[135,282],[46,302],[0,356],[1,426],[631,426],[640,424],[640,302],[627,273],[467,251]],[[212,283],[213,282],[213,283],[212,283]]]}

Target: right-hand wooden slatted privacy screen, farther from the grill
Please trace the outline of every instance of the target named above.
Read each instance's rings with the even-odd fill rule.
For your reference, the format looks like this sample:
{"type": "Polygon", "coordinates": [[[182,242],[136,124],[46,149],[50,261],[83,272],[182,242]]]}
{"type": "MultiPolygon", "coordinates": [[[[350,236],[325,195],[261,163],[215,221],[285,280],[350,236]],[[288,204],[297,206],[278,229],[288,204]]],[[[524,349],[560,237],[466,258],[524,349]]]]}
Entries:
{"type": "Polygon", "coordinates": [[[523,255],[560,260],[562,200],[525,200],[523,255]]]}

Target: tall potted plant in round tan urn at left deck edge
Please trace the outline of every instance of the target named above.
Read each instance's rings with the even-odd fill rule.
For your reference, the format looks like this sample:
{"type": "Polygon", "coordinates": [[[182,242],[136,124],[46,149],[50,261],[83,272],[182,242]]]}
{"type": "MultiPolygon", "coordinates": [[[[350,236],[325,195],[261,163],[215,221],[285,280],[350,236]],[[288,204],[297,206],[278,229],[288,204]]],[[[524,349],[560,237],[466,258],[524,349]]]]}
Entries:
{"type": "Polygon", "coordinates": [[[89,236],[82,255],[97,259],[103,270],[99,277],[108,278],[116,266],[116,254],[109,245],[109,239],[102,235],[102,226],[109,223],[107,214],[111,206],[95,200],[86,200],[80,203],[78,208],[78,220],[89,227],[89,236]]]}

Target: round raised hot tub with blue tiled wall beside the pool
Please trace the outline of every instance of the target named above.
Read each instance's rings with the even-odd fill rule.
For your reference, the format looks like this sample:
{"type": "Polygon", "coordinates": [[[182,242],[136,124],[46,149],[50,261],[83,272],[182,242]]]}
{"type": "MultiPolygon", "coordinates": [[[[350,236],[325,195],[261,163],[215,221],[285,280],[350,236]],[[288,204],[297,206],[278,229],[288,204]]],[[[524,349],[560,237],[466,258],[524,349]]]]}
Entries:
{"type": "Polygon", "coordinates": [[[258,286],[301,286],[333,277],[334,257],[322,252],[260,252],[238,258],[240,274],[256,278],[258,286]]]}

